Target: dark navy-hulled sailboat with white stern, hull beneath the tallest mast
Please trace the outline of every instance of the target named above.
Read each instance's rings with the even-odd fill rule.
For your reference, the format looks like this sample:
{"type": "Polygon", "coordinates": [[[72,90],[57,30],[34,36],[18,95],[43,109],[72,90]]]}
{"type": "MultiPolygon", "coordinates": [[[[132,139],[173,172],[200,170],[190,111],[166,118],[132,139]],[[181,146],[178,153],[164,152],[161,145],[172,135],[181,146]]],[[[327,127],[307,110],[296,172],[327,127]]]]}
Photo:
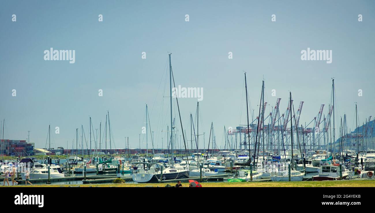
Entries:
{"type": "Polygon", "coordinates": [[[189,170],[179,170],[175,168],[165,168],[162,164],[150,164],[146,162],[138,162],[137,165],[143,164],[147,168],[133,167],[138,170],[133,173],[132,179],[137,183],[158,182],[159,180],[173,180],[189,178],[189,170]]]}

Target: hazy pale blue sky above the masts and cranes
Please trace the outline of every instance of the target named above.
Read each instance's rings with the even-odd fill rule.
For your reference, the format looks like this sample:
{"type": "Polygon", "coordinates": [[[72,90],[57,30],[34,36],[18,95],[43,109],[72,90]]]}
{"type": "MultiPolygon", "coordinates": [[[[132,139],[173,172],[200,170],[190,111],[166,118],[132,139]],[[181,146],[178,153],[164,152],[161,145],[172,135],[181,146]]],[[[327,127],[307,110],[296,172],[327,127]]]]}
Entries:
{"type": "MultiPolygon", "coordinates": [[[[75,129],[82,124],[89,140],[89,116],[94,131],[101,121],[103,131],[109,110],[114,146],[125,147],[127,136],[130,148],[136,148],[147,103],[155,147],[162,146],[162,137],[165,146],[161,131],[169,124],[169,99],[163,98],[169,95],[168,51],[176,85],[203,88],[199,134],[205,132],[206,143],[211,122],[218,146],[224,125],[245,124],[243,70],[255,112],[264,76],[267,114],[276,98],[282,98],[284,113],[291,91],[296,112],[305,101],[300,124],[317,116],[320,104],[326,104],[327,114],[335,77],[336,119],[347,113],[353,130],[354,102],[361,123],[374,115],[374,11],[371,0],[1,1],[0,118],[6,120],[5,139],[25,140],[30,130],[30,141],[45,147],[51,124],[51,147],[66,147],[68,141],[72,148],[75,129]],[[50,48],[75,50],[75,63],[45,61],[43,52],[50,48]],[[302,61],[301,51],[307,48],[332,50],[332,63],[302,61]]],[[[189,114],[195,119],[196,101],[179,99],[189,138],[189,114]]],[[[181,130],[179,123],[177,127],[181,130]]],[[[145,147],[144,134],[141,141],[145,147]]]]}

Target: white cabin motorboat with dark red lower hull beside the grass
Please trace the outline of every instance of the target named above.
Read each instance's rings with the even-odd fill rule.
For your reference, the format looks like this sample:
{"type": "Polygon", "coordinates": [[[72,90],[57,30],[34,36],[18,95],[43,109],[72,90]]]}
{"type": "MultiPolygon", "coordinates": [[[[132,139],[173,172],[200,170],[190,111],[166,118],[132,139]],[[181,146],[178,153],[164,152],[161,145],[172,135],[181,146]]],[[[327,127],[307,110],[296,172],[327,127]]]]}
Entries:
{"type": "Polygon", "coordinates": [[[345,179],[348,173],[344,165],[329,164],[321,165],[319,174],[313,176],[312,180],[340,180],[340,167],[342,168],[342,179],[345,179]]]}

